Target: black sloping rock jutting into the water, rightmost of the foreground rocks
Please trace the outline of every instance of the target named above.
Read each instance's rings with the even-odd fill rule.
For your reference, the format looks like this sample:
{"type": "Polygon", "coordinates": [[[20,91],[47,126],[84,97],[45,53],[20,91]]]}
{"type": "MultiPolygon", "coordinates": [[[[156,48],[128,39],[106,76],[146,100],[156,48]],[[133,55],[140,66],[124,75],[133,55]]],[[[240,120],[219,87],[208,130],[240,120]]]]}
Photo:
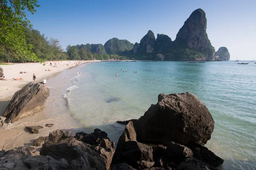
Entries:
{"type": "Polygon", "coordinates": [[[207,147],[202,146],[201,144],[194,144],[191,147],[194,156],[205,163],[217,167],[220,164],[223,164],[224,160],[215,155],[212,151],[210,151],[207,147]]]}

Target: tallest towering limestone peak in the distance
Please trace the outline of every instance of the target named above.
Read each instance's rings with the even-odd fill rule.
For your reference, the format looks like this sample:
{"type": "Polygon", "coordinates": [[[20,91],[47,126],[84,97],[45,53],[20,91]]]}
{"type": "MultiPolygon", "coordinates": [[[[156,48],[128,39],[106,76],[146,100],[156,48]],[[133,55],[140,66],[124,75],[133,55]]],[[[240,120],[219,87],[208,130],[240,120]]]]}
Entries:
{"type": "Polygon", "coordinates": [[[206,28],[204,10],[199,8],[193,11],[177,33],[176,45],[200,51],[205,54],[206,60],[212,60],[215,50],[208,39],[206,28]]]}

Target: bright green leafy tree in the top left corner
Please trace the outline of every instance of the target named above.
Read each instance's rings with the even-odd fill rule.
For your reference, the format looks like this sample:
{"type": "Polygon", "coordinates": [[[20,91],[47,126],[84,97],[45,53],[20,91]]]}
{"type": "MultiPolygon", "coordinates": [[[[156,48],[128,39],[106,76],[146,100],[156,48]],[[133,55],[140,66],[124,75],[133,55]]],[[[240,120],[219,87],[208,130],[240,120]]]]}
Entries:
{"type": "Polygon", "coordinates": [[[25,57],[33,61],[32,45],[26,43],[23,24],[29,24],[25,11],[34,14],[37,0],[0,0],[0,54],[6,58],[25,57]]]}

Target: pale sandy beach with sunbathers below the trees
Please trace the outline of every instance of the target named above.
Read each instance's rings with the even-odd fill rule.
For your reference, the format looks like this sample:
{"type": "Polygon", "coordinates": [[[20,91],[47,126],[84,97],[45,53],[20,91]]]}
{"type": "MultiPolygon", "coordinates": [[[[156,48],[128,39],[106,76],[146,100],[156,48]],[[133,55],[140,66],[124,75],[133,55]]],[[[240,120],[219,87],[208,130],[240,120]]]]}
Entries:
{"type": "MultiPolygon", "coordinates": [[[[0,65],[3,68],[3,73],[6,78],[6,81],[0,80],[0,116],[3,116],[3,112],[5,111],[7,105],[9,104],[9,100],[12,99],[15,92],[20,90],[27,83],[33,81],[33,74],[36,75],[37,82],[42,82],[44,77],[47,80],[51,77],[55,77],[61,73],[61,71],[77,66],[76,63],[80,62],[81,64],[84,64],[95,61],[55,61],[57,63],[57,67],[53,67],[55,62],[52,62],[52,66],[50,66],[49,61],[44,62],[45,65],[44,63],[12,63],[10,65],[0,65]],[[67,63],[69,64],[68,66],[67,63]],[[48,69],[51,71],[48,71],[48,69]],[[26,71],[26,73],[20,74],[20,71],[26,71]],[[13,80],[13,78],[20,77],[23,80],[13,80]]],[[[12,130],[10,130],[10,126],[13,125],[8,125],[8,127],[0,127],[0,150],[3,149],[3,145],[6,143],[6,140],[17,135],[20,133],[20,130],[22,130],[20,128],[17,128],[17,130],[12,128],[12,130]]]]}

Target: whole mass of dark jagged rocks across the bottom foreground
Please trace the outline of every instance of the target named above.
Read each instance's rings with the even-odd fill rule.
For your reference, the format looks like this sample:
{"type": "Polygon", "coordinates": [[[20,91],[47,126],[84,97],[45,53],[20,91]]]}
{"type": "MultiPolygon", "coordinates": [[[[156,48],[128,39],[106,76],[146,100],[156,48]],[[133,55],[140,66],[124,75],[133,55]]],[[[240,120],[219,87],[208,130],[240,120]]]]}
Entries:
{"type": "Polygon", "coordinates": [[[0,154],[0,170],[216,170],[224,160],[203,146],[213,128],[195,95],[160,94],[144,116],[128,122],[116,150],[99,129],[76,136],[55,130],[34,141],[42,145],[40,156],[29,146],[0,154]]]}

